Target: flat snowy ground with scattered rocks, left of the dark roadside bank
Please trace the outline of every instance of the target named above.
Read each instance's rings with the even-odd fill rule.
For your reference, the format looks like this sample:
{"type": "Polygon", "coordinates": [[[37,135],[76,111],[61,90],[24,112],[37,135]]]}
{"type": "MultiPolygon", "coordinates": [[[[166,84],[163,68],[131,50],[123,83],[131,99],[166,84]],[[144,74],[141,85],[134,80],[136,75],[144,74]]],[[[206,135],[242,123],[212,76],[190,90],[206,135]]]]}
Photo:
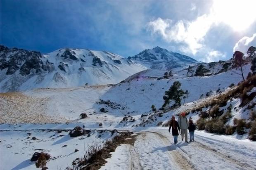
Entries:
{"type": "Polygon", "coordinates": [[[112,134],[109,130],[91,130],[86,135],[70,137],[69,130],[11,130],[1,132],[0,169],[35,170],[37,169],[35,162],[30,161],[33,153],[45,152],[51,156],[50,161],[47,162],[49,169],[64,170],[66,167],[72,167],[72,161],[81,158],[85,150],[91,146],[95,144],[102,146],[106,140],[117,135],[117,132],[112,134]],[[32,137],[36,137],[36,140],[33,140],[32,137]],[[75,149],[78,151],[75,152],[75,149]],[[12,163],[8,163],[10,160],[12,163]]]}

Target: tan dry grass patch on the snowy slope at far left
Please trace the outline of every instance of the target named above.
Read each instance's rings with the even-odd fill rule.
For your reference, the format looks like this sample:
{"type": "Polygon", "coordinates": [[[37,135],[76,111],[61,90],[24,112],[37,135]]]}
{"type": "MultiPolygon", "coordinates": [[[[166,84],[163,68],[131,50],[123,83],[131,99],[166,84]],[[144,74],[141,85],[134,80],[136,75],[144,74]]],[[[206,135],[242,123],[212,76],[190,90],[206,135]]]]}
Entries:
{"type": "Polygon", "coordinates": [[[45,98],[36,98],[21,92],[0,93],[0,123],[55,123],[64,118],[46,115],[45,98]]]}

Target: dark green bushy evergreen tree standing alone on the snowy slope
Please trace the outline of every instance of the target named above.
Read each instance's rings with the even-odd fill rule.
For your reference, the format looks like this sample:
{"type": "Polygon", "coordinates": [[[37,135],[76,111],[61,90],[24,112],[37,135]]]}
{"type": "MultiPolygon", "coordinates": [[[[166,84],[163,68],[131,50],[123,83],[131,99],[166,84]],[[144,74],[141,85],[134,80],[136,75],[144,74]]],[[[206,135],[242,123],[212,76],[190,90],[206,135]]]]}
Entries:
{"type": "Polygon", "coordinates": [[[169,103],[169,100],[174,100],[176,104],[181,106],[181,100],[180,97],[182,97],[185,92],[180,89],[181,83],[179,81],[173,82],[173,85],[169,88],[168,91],[165,91],[165,96],[163,97],[165,99],[163,107],[166,106],[166,104],[169,103]]]}

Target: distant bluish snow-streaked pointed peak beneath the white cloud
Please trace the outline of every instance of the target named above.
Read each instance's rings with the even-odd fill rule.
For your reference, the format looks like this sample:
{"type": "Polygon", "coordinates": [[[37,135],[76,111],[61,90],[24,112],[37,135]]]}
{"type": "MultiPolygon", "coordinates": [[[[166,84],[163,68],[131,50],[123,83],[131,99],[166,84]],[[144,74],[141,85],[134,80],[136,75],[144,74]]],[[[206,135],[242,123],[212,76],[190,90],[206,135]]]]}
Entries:
{"type": "Polygon", "coordinates": [[[170,52],[161,47],[144,50],[133,57],[128,57],[128,59],[136,61],[148,68],[158,70],[179,70],[180,68],[187,68],[190,65],[198,63],[198,61],[191,57],[170,52]]]}

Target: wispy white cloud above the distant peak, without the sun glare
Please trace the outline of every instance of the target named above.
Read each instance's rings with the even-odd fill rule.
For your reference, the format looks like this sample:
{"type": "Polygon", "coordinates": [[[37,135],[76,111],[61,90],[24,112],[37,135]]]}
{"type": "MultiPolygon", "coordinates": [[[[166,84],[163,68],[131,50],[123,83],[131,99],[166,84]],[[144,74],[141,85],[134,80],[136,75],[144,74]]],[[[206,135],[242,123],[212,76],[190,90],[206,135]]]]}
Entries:
{"type": "Polygon", "coordinates": [[[213,21],[211,17],[204,14],[192,22],[179,20],[175,24],[172,23],[173,21],[170,19],[158,18],[150,21],[147,24],[147,28],[152,33],[159,33],[167,42],[185,43],[188,47],[187,50],[190,50],[192,54],[196,54],[203,46],[201,42],[204,41],[204,36],[213,21]]]}

